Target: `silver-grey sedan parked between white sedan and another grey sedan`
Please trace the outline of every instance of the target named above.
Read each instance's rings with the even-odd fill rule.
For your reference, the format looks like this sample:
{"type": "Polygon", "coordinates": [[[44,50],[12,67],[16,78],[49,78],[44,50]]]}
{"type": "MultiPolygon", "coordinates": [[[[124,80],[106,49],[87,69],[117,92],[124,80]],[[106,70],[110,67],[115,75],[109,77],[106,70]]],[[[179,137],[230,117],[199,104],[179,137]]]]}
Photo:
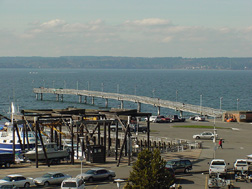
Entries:
{"type": "Polygon", "coordinates": [[[61,182],[67,178],[71,178],[70,175],[60,172],[48,172],[41,177],[34,179],[37,186],[49,186],[51,184],[61,184],[61,182]]]}

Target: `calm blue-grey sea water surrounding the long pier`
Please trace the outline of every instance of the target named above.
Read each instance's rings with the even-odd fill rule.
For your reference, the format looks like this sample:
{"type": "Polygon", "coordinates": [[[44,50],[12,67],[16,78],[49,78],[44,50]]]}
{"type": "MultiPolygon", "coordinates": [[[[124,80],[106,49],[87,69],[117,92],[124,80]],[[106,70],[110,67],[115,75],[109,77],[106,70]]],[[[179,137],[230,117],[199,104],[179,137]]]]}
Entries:
{"type": "MultiPolygon", "coordinates": [[[[77,96],[66,95],[64,102],[56,102],[52,94],[46,94],[44,101],[38,101],[32,92],[35,87],[103,90],[195,105],[200,105],[202,95],[202,106],[218,109],[221,105],[224,110],[252,109],[252,71],[1,69],[0,114],[8,115],[11,102],[19,109],[69,106],[97,109],[105,106],[104,99],[96,99],[92,106],[78,103],[77,96]]],[[[110,107],[119,105],[120,102],[109,100],[110,107]]],[[[125,102],[124,106],[137,108],[130,102],[125,102]]],[[[157,114],[157,109],[150,105],[142,105],[142,111],[157,114]]],[[[174,110],[161,109],[164,115],[174,113],[174,110]]]]}

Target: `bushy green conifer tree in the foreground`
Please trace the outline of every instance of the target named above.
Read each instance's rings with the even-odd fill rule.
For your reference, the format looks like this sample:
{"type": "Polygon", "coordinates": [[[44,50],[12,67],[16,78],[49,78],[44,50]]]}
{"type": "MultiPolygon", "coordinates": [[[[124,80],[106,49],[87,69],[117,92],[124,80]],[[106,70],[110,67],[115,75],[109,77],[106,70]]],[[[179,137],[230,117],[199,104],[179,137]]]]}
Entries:
{"type": "Polygon", "coordinates": [[[174,183],[171,173],[165,169],[165,161],[158,149],[153,152],[143,150],[137,156],[137,161],[130,172],[129,182],[125,188],[163,189],[174,183]]]}

